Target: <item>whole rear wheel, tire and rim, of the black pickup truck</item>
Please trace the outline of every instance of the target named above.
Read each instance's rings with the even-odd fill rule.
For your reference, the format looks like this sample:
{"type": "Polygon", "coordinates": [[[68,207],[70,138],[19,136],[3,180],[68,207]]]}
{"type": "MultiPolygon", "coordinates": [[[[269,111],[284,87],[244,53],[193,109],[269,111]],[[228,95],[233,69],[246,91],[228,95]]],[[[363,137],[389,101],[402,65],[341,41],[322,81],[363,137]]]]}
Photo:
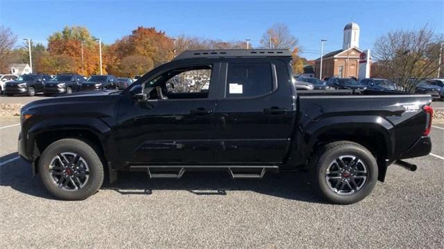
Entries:
{"type": "Polygon", "coordinates": [[[313,160],[318,192],[331,203],[357,203],[372,192],[377,182],[375,157],[355,142],[327,144],[313,160]]]}

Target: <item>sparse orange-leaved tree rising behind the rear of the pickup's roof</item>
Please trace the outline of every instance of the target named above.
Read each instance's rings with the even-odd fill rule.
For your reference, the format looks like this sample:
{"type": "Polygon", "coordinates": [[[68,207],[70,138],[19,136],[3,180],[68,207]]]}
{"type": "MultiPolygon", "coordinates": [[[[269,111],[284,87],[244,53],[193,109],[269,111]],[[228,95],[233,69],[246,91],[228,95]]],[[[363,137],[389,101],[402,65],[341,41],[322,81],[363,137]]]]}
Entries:
{"type": "Polygon", "coordinates": [[[287,25],[278,23],[266,30],[260,44],[263,48],[293,50],[298,46],[298,39],[291,35],[287,25]]]}

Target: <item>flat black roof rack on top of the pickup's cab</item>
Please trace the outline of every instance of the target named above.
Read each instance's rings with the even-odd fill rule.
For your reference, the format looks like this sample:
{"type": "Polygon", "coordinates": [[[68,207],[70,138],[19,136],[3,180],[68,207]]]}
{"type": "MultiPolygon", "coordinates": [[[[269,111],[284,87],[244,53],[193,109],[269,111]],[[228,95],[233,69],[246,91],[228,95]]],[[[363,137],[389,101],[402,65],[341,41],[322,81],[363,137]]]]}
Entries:
{"type": "Polygon", "coordinates": [[[187,50],[173,60],[190,58],[219,57],[291,57],[288,49],[218,49],[218,50],[187,50]]]}

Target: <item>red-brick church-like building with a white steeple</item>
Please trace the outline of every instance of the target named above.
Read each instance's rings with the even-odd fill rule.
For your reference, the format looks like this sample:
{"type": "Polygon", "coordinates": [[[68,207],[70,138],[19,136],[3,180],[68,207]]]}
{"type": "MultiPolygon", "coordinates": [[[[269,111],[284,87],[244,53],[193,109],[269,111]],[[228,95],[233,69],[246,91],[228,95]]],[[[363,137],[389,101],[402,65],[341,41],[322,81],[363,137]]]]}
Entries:
{"type": "MultiPolygon", "coordinates": [[[[359,55],[359,26],[355,23],[345,25],[343,33],[343,46],[339,50],[323,56],[322,76],[324,77],[358,77],[359,55]]],[[[319,77],[321,57],[315,60],[314,71],[319,77]]]]}

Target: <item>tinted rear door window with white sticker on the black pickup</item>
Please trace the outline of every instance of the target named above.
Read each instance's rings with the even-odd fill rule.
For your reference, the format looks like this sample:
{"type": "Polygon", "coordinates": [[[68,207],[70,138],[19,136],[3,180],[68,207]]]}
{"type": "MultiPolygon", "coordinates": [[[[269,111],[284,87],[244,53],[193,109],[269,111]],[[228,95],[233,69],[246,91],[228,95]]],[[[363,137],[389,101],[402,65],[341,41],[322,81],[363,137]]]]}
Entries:
{"type": "Polygon", "coordinates": [[[268,63],[229,63],[225,98],[250,98],[273,91],[268,63]]]}

